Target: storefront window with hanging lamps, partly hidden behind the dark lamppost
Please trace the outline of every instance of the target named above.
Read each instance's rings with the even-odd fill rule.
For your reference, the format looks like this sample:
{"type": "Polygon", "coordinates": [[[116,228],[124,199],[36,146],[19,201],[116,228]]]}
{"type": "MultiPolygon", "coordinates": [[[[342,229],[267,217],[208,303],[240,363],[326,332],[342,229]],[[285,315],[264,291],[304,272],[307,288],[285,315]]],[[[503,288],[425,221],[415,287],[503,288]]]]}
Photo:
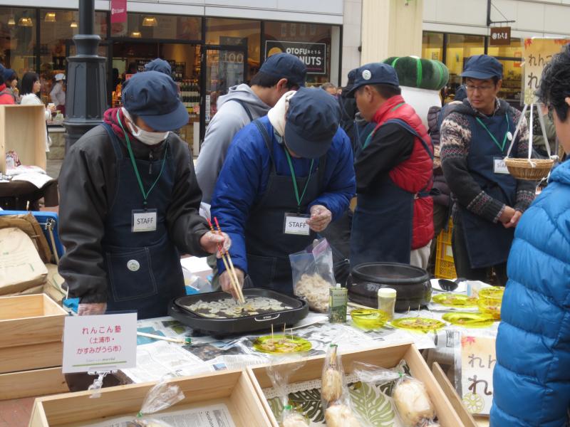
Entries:
{"type": "MultiPolygon", "coordinates": [[[[54,76],[66,73],[66,43],[79,32],[79,12],[62,9],[40,9],[40,80],[43,102],[51,102],[49,94],[54,76]]],[[[95,12],[95,34],[107,36],[107,14],[95,12]]]]}

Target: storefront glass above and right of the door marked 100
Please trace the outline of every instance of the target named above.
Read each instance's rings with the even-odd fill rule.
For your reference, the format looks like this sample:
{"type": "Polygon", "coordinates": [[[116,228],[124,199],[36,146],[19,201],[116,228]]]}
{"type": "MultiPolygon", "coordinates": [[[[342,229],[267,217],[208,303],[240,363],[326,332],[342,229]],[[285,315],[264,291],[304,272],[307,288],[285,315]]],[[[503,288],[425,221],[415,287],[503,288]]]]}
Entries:
{"type": "Polygon", "coordinates": [[[260,39],[260,21],[224,18],[206,19],[206,44],[243,46],[247,48],[247,80],[252,78],[259,70],[260,39]]]}

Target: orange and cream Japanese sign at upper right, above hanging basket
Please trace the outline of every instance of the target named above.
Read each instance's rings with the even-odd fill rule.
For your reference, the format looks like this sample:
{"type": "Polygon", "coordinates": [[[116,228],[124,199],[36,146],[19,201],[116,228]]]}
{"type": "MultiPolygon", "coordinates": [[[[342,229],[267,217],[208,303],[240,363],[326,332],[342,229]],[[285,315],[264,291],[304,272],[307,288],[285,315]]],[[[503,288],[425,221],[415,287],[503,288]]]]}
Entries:
{"type": "Polygon", "coordinates": [[[570,39],[525,38],[524,39],[524,103],[534,102],[534,92],[539,88],[544,66],[552,56],[559,53],[570,39]]]}

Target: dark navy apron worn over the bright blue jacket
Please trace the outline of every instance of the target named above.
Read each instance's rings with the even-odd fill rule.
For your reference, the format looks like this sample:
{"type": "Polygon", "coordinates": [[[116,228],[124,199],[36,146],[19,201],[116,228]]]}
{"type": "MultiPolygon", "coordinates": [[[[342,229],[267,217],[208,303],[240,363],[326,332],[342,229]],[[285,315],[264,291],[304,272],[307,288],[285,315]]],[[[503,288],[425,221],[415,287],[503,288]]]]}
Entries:
{"type": "MultiPolygon", "coordinates": [[[[267,120],[264,121],[269,123],[267,120]]],[[[247,273],[255,288],[266,288],[292,295],[293,278],[289,254],[303,251],[314,240],[316,233],[311,232],[309,236],[285,234],[283,232],[285,214],[306,213],[309,204],[321,194],[326,154],[319,159],[316,173],[311,174],[305,196],[298,209],[293,178],[276,174],[273,140],[268,128],[259,119],[254,120],[254,123],[269,150],[271,172],[265,194],[250,212],[244,230],[247,273]]],[[[305,187],[306,182],[307,178],[297,178],[300,189],[305,187]]]]}

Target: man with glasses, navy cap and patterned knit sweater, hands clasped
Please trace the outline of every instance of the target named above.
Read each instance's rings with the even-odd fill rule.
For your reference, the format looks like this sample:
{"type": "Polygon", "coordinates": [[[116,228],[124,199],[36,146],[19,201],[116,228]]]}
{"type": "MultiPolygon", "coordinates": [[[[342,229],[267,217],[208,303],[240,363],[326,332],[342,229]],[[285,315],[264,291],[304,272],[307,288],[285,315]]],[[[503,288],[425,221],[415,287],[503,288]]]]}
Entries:
{"type": "MultiPolygon", "coordinates": [[[[499,100],[503,67],[492,56],[472,56],[462,78],[467,99],[450,105],[441,126],[443,174],[455,201],[452,249],[458,277],[507,283],[514,227],[534,199],[532,181],[509,175],[502,159],[520,112],[499,100]]],[[[522,121],[512,156],[527,157],[528,127],[522,121]]]]}

